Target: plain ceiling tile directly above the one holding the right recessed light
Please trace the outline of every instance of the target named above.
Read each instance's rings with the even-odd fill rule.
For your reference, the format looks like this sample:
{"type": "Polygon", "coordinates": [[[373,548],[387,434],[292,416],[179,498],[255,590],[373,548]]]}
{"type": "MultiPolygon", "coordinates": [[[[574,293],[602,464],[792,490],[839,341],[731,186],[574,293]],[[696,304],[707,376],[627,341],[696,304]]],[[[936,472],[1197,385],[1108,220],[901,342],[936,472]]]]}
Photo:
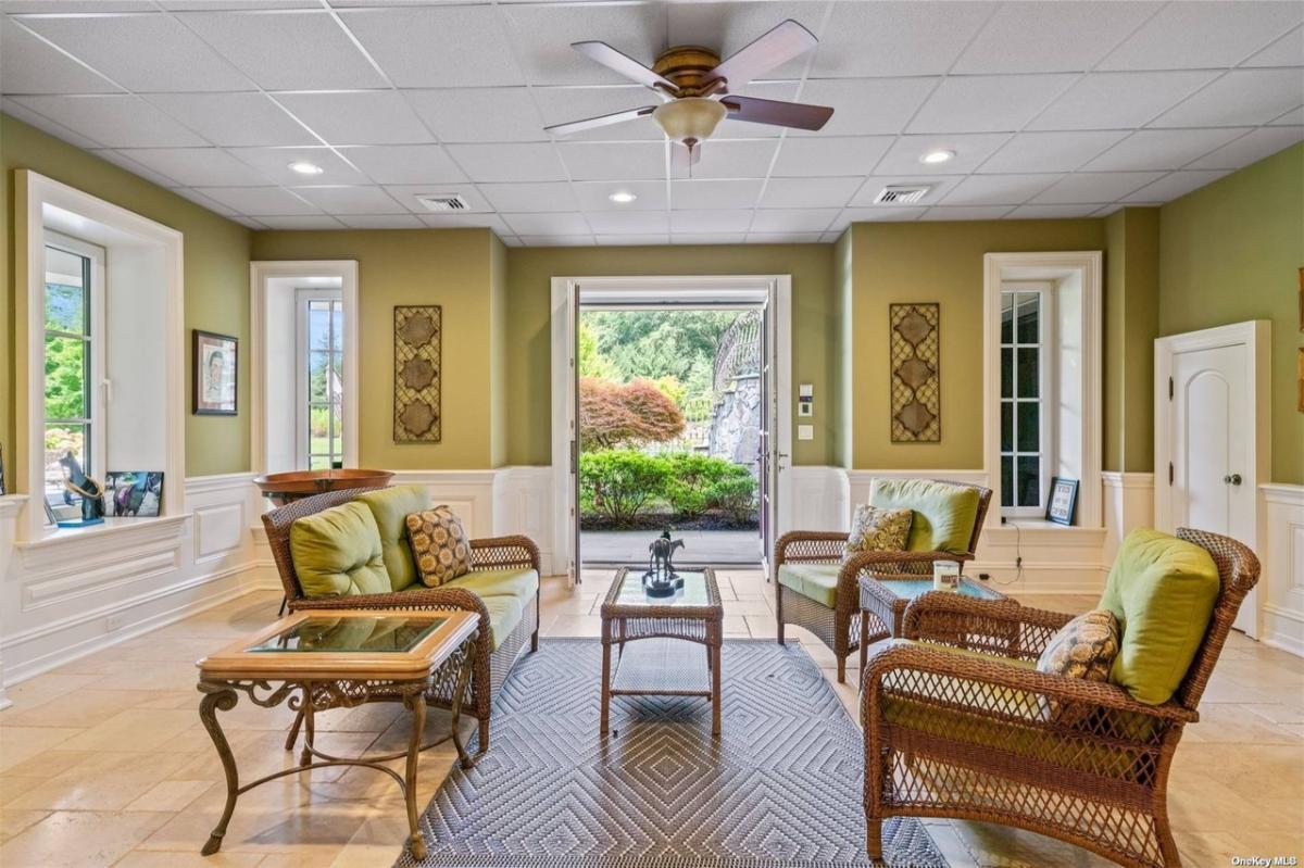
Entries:
{"type": "Polygon", "coordinates": [[[1074,76],[947,78],[910,121],[911,133],[990,133],[1022,129],[1074,76]]]}

